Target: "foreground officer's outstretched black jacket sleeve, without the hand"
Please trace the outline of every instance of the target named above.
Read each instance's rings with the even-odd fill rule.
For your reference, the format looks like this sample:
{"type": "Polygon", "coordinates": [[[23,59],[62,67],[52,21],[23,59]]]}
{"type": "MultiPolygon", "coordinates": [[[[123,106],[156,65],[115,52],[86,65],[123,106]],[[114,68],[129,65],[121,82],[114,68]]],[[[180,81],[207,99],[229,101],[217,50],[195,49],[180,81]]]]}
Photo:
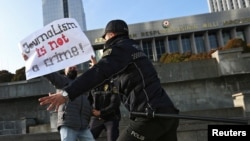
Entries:
{"type": "Polygon", "coordinates": [[[104,52],[102,59],[64,88],[71,100],[109,80],[131,61],[131,58],[121,55],[124,54],[123,50],[117,51],[114,49],[112,51],[107,50],[107,52],[109,54],[104,52]]]}

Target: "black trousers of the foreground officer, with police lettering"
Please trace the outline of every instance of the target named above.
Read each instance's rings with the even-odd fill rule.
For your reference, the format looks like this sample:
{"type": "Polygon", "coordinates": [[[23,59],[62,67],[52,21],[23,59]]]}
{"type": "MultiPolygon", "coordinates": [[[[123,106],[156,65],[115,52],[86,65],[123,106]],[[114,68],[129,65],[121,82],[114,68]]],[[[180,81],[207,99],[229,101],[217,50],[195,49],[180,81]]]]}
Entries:
{"type": "Polygon", "coordinates": [[[143,118],[130,120],[117,141],[177,141],[177,118],[143,118]]]}

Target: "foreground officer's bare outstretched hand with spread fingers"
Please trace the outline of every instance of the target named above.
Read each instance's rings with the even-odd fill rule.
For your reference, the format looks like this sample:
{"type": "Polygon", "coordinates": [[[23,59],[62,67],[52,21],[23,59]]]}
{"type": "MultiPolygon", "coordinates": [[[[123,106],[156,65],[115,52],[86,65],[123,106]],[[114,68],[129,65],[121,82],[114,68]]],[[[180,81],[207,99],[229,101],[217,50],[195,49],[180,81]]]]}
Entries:
{"type": "Polygon", "coordinates": [[[38,99],[38,101],[40,102],[40,105],[49,105],[47,110],[54,109],[55,111],[58,111],[59,106],[65,103],[66,99],[59,92],[59,93],[49,94],[49,96],[41,97],[38,99]]]}

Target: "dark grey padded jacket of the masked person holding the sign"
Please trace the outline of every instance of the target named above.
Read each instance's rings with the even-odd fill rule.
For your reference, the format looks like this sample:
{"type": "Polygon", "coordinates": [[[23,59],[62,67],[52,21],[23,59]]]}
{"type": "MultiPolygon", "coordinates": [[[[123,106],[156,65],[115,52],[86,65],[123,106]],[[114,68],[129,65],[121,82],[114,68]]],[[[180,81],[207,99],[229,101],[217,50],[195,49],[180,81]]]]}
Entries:
{"type": "MultiPolygon", "coordinates": [[[[72,82],[59,73],[51,73],[45,77],[57,88],[61,89],[72,82]]],[[[75,130],[88,128],[91,117],[91,106],[86,95],[81,95],[73,101],[63,104],[58,109],[58,130],[62,125],[75,130]]]]}

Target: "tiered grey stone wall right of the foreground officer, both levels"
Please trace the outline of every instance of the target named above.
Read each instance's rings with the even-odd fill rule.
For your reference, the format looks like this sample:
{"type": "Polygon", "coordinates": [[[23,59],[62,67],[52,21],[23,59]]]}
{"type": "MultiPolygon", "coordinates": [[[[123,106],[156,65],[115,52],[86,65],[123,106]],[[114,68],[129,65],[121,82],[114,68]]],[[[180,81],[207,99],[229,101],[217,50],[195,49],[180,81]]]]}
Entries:
{"type": "Polygon", "coordinates": [[[234,106],[233,94],[249,91],[250,54],[241,51],[217,51],[212,59],[155,64],[155,68],[181,111],[228,108],[234,106]]]}

